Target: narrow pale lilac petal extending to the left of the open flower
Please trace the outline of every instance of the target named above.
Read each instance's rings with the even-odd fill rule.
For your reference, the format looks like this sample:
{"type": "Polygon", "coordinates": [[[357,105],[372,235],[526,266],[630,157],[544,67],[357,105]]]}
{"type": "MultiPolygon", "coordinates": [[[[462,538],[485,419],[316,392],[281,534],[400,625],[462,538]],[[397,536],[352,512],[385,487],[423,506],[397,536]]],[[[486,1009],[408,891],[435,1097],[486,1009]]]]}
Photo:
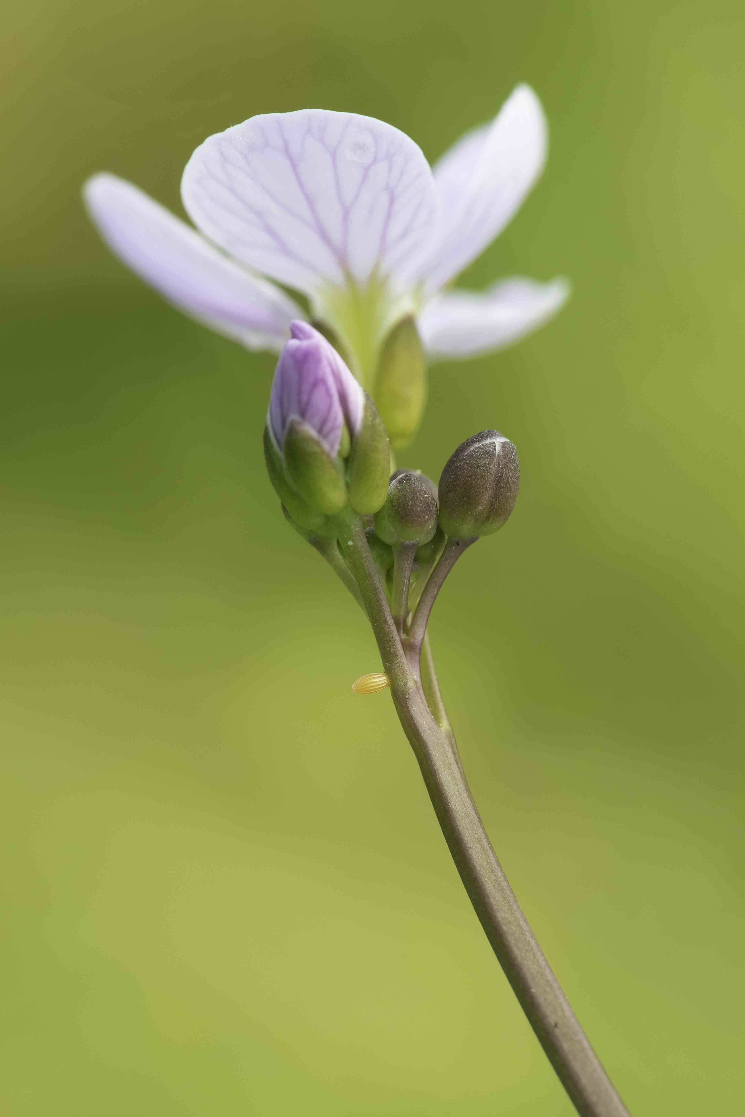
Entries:
{"type": "Polygon", "coordinates": [[[281,347],[302,311],[274,284],[114,174],[88,179],[84,199],[109,248],[184,314],[248,349],[281,347]]]}

